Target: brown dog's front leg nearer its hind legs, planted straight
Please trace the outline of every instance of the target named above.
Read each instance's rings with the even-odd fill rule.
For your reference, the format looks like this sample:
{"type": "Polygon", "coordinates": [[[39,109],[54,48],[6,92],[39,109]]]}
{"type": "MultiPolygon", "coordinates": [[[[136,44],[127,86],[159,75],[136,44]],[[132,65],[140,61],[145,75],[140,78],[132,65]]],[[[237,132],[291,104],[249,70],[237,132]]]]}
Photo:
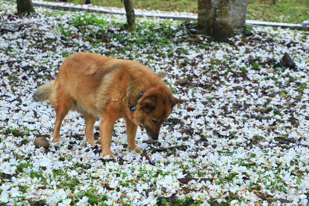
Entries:
{"type": "Polygon", "coordinates": [[[100,142],[102,154],[104,157],[109,155],[109,157],[114,158],[115,155],[112,154],[111,144],[112,144],[112,134],[115,123],[115,118],[112,115],[103,115],[101,118],[100,126],[100,142]]]}

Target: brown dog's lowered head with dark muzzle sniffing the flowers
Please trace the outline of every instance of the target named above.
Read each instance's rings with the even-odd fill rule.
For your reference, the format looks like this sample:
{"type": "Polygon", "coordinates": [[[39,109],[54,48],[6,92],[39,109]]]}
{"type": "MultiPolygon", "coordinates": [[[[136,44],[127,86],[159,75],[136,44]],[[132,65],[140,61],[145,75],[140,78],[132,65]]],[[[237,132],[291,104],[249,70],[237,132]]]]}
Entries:
{"type": "Polygon", "coordinates": [[[145,94],[138,101],[136,120],[142,124],[148,136],[157,140],[160,128],[164,121],[171,114],[173,107],[184,100],[172,96],[172,92],[166,86],[158,86],[145,91],[145,94]]]}

